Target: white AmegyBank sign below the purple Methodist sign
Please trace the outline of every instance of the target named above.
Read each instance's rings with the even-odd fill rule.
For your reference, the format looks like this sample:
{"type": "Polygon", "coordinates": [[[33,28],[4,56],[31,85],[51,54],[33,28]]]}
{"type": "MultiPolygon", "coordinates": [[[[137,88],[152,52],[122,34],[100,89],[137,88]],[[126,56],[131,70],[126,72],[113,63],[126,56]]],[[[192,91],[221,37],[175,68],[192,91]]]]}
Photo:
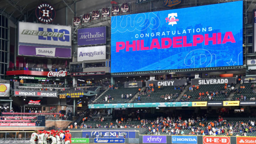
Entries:
{"type": "Polygon", "coordinates": [[[98,59],[106,59],[106,46],[78,48],[78,62],[98,59]]]}

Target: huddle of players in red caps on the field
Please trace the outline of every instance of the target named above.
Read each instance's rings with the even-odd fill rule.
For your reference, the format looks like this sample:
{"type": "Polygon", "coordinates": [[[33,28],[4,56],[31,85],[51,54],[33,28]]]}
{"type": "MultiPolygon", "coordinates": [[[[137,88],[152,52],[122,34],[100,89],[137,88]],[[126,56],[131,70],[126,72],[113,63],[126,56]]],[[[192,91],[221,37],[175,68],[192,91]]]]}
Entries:
{"type": "Polygon", "coordinates": [[[40,131],[35,130],[31,134],[30,144],[70,144],[71,134],[69,130],[58,131],[51,130],[47,132],[46,130],[40,131]]]}

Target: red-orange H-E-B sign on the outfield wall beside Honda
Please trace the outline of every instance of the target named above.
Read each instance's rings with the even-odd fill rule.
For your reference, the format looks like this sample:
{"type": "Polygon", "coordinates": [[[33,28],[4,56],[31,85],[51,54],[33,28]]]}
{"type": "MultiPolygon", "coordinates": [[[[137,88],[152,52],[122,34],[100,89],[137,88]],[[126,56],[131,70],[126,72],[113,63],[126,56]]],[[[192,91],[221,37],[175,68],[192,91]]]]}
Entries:
{"type": "Polygon", "coordinates": [[[230,137],[203,137],[203,144],[230,144],[230,137]]]}

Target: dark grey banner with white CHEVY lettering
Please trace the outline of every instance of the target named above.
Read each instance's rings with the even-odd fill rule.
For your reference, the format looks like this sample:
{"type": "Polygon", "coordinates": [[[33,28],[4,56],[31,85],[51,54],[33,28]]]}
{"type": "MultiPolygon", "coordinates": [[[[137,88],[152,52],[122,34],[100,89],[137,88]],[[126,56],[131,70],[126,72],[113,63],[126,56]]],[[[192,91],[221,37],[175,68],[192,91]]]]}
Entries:
{"type": "Polygon", "coordinates": [[[146,81],[146,86],[148,87],[149,84],[153,84],[154,86],[182,86],[185,85],[187,80],[151,80],[146,81]]]}

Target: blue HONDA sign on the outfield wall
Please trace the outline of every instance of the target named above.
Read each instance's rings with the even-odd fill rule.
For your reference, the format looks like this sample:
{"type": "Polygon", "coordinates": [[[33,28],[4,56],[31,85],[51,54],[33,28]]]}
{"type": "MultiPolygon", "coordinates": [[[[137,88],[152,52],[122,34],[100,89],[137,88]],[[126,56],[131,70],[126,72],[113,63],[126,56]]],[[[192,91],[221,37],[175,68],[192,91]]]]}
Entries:
{"type": "Polygon", "coordinates": [[[172,135],[173,144],[197,144],[197,136],[172,135]]]}

